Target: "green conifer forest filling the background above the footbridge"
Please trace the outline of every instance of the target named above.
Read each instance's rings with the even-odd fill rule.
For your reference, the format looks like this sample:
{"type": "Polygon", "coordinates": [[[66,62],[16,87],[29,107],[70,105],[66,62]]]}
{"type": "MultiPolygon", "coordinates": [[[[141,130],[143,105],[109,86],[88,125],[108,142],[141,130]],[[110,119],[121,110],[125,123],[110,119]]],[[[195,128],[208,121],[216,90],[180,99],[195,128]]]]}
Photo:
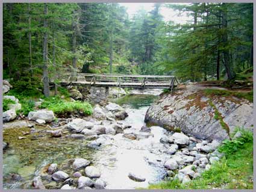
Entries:
{"type": "Polygon", "coordinates": [[[66,71],[234,79],[253,67],[252,17],[250,3],[155,4],[131,18],[116,3],[5,3],[4,78],[39,91],[66,71]],[[166,22],[162,7],[192,19],[166,22]]]}

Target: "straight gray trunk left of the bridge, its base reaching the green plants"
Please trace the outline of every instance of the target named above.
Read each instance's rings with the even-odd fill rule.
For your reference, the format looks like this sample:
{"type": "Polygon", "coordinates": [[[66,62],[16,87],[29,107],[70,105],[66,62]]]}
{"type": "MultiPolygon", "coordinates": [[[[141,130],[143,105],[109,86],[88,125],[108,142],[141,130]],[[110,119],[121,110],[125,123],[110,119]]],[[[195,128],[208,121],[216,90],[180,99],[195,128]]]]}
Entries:
{"type": "Polygon", "coordinates": [[[43,93],[46,97],[50,96],[49,88],[49,76],[48,76],[48,34],[46,29],[48,28],[48,19],[46,18],[48,14],[48,5],[45,3],[44,8],[45,19],[43,22],[43,27],[45,32],[43,33],[43,93]]]}

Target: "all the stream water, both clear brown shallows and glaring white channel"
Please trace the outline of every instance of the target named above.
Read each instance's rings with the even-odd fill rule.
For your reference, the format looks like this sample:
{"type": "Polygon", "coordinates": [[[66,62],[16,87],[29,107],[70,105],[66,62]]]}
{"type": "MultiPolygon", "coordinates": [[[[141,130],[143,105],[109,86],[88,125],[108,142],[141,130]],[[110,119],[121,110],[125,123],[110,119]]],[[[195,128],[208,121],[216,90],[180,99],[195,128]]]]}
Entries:
{"type": "MultiPolygon", "coordinates": [[[[144,92],[145,93],[145,92],[144,92]]],[[[149,94],[130,94],[116,102],[122,105],[128,113],[125,120],[121,120],[131,128],[125,133],[143,134],[140,128],[145,125],[146,110],[152,104],[159,92],[149,94]]],[[[168,134],[159,126],[151,127],[151,136],[140,140],[130,140],[122,137],[123,134],[110,135],[108,141],[99,149],[90,149],[86,145],[89,141],[61,138],[51,138],[44,132],[44,128],[36,128],[35,134],[22,135],[30,128],[5,129],[4,141],[9,147],[4,152],[4,188],[28,188],[31,179],[39,175],[42,167],[50,163],[65,165],[68,159],[86,158],[92,161],[93,166],[101,171],[101,178],[107,182],[109,189],[132,189],[147,187],[149,183],[158,182],[166,175],[163,169],[164,161],[169,158],[163,153],[166,147],[160,143],[160,138],[168,134]],[[18,137],[27,137],[18,139],[18,137]],[[140,175],[145,182],[135,182],[128,178],[129,173],[140,175]],[[22,178],[17,181],[13,174],[22,178]],[[26,185],[27,184],[27,185],[26,185]]],[[[63,166],[64,167],[64,166],[63,166]]],[[[61,167],[59,167],[61,169],[61,167]]],[[[69,175],[72,170],[66,170],[69,175]]]]}

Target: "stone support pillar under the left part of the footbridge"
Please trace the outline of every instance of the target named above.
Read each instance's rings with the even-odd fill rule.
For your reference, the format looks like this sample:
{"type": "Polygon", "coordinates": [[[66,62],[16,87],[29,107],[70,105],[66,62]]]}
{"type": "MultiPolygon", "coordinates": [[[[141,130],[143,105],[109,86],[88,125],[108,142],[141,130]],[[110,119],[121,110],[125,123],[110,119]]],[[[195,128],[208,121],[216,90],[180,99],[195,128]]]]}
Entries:
{"type": "Polygon", "coordinates": [[[108,99],[109,87],[90,87],[89,100],[94,104],[105,104],[108,99]]]}

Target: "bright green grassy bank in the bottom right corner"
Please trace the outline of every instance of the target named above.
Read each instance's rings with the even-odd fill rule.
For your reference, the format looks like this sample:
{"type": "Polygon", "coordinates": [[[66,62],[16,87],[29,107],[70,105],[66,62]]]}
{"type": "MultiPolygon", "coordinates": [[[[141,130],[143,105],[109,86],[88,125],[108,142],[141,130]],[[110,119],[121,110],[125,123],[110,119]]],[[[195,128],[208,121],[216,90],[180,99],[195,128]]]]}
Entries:
{"type": "Polygon", "coordinates": [[[202,173],[200,178],[187,184],[180,181],[164,181],[149,185],[149,189],[252,189],[253,188],[253,136],[250,131],[242,131],[242,137],[225,141],[220,146],[225,153],[210,170],[202,173]],[[240,143],[237,143],[240,141],[240,143]]]}

